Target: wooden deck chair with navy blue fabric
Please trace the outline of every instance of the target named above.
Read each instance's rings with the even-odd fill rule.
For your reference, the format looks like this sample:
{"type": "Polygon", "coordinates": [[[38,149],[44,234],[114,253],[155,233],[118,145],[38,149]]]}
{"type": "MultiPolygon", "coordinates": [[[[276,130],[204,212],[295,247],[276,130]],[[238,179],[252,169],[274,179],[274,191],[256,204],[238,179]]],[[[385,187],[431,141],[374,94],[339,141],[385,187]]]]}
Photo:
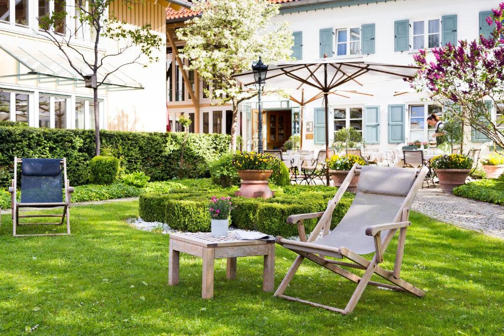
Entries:
{"type": "Polygon", "coordinates": [[[67,159],[18,159],[14,158],[14,179],[12,187],[9,188],[12,194],[12,222],[14,237],[22,236],[56,236],[70,234],[70,206],[71,194],[74,188],[70,186],[67,178],[67,159]],[[21,202],[16,200],[18,163],[21,164],[21,202]],[[61,168],[62,166],[62,168],[61,168]],[[61,179],[61,171],[63,179],[61,179]],[[63,184],[65,183],[65,184],[63,184]],[[62,189],[64,189],[65,200],[63,200],[62,189]],[[54,208],[63,207],[61,215],[19,215],[19,208],[54,208]],[[56,223],[19,223],[20,218],[31,217],[59,217],[61,220],[56,223]],[[16,234],[18,225],[62,225],[67,219],[67,233],[51,234],[16,234]]]}

